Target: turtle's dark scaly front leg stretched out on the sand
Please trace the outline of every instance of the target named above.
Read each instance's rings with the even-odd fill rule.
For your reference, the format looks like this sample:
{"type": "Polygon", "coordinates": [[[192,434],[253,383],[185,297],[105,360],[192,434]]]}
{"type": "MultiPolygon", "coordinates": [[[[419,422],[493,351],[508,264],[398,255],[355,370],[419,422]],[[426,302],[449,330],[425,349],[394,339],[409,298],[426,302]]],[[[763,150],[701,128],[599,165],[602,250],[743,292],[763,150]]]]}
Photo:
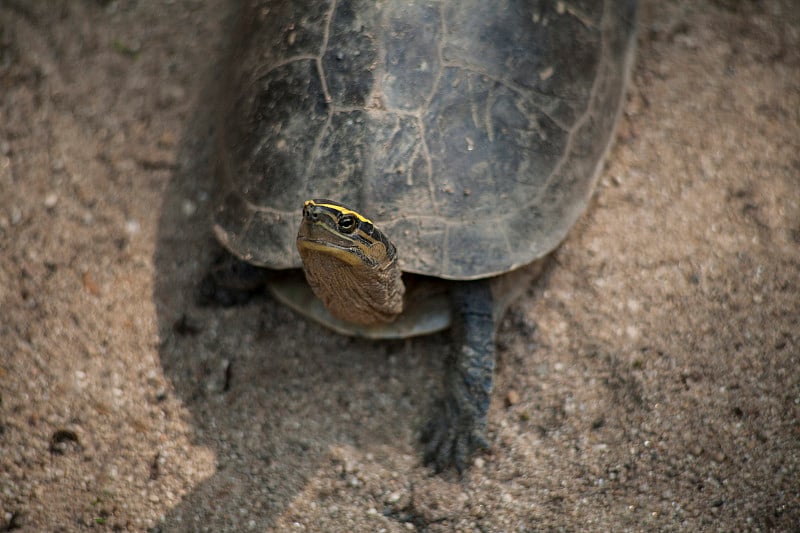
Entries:
{"type": "Polygon", "coordinates": [[[470,456],[488,448],[486,415],[494,372],[492,293],[486,280],[454,282],[453,353],[444,398],[422,432],[425,464],[463,473],[470,456]]]}

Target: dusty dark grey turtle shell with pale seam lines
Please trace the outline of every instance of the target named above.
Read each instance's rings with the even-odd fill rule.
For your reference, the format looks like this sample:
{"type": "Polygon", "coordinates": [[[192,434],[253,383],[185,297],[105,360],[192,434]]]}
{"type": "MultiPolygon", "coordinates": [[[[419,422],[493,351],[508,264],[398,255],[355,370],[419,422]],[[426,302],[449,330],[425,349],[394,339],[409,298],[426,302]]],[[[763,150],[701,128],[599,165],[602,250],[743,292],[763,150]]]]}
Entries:
{"type": "Polygon", "coordinates": [[[551,251],[612,140],[635,0],[248,2],[226,75],[215,232],[300,266],[303,201],[371,218],[403,270],[491,276],[551,251]]]}

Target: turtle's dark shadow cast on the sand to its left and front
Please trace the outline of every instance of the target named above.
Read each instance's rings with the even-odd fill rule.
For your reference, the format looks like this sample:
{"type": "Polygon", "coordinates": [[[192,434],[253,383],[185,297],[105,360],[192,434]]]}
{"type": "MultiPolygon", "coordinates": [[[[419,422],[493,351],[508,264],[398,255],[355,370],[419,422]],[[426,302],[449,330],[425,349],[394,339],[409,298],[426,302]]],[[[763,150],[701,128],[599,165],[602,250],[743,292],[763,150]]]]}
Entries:
{"type": "Polygon", "coordinates": [[[169,530],[235,528],[242,507],[259,509],[245,522],[269,527],[326,468],[333,446],[376,458],[398,447],[417,453],[424,391],[441,376],[442,358],[415,354],[446,346],[434,336],[421,341],[428,350],[415,343],[409,353],[404,341],[345,338],[266,295],[228,309],[198,306],[197,285],[216,247],[212,136],[211,118],[199,108],[164,194],[154,258],[164,375],[190,413],[194,443],[216,462],[215,473],[168,514],[169,530]]]}

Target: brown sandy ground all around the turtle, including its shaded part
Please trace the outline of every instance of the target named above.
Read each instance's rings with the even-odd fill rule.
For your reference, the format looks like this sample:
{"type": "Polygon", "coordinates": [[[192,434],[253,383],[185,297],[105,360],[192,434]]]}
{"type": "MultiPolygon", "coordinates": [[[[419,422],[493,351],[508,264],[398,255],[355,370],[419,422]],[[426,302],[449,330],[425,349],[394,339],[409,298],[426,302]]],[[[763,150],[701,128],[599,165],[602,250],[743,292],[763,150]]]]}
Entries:
{"type": "Polygon", "coordinates": [[[195,304],[229,9],[0,3],[0,530],[798,531],[796,2],[643,2],[463,480],[417,443],[446,335],[195,304]]]}

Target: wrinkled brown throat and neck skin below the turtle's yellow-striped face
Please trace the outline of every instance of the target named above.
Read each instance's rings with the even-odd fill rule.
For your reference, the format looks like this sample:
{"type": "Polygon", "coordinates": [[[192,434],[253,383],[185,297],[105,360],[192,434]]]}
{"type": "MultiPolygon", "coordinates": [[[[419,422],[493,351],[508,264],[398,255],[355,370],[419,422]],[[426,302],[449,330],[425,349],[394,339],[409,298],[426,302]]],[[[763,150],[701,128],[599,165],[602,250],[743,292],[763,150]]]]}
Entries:
{"type": "Polygon", "coordinates": [[[304,221],[297,249],[308,284],[334,317],[369,326],[391,322],[403,311],[397,257],[387,255],[383,244],[356,245],[304,221]]]}

